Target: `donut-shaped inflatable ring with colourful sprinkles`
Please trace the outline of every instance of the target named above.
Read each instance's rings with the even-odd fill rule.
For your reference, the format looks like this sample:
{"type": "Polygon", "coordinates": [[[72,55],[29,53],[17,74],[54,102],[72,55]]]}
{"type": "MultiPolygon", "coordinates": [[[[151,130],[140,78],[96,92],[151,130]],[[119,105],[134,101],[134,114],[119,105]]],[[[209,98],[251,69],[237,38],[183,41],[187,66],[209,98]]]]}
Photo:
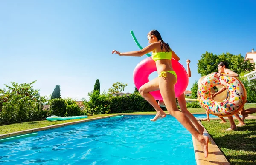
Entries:
{"type": "Polygon", "coordinates": [[[210,114],[227,117],[238,113],[246,102],[246,90],[241,81],[231,76],[217,77],[212,73],[204,77],[198,86],[198,99],[201,106],[210,114]],[[212,100],[211,88],[216,85],[223,85],[228,92],[227,99],[223,102],[212,100]]]}

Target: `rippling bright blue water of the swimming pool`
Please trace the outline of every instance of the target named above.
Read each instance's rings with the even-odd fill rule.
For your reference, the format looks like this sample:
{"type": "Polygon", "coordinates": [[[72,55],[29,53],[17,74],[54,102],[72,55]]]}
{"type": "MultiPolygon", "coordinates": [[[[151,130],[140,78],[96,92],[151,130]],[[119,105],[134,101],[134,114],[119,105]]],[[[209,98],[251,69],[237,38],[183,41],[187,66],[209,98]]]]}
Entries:
{"type": "Polygon", "coordinates": [[[168,115],[125,115],[0,143],[0,164],[195,165],[191,134],[168,115]]]}

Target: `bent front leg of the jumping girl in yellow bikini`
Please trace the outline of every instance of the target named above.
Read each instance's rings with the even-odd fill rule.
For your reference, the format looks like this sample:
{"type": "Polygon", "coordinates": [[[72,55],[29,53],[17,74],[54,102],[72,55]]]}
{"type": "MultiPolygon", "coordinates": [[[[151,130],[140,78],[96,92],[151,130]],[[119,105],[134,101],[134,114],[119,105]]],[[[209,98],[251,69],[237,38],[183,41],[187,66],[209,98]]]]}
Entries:
{"type": "Polygon", "coordinates": [[[149,102],[150,105],[154,107],[154,109],[157,111],[156,116],[151,119],[151,121],[156,121],[157,119],[166,117],[166,113],[160,108],[160,106],[157,104],[157,101],[154,99],[154,97],[149,93],[151,91],[157,91],[159,90],[159,77],[154,78],[153,80],[149,81],[148,83],[145,83],[140,87],[140,95],[145,98],[149,102]]]}

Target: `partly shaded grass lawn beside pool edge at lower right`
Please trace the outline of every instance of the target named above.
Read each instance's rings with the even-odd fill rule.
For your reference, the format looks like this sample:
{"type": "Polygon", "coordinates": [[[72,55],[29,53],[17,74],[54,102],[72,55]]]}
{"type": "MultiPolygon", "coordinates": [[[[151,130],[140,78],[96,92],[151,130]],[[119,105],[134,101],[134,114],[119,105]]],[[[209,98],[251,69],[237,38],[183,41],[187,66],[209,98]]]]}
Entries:
{"type": "Polygon", "coordinates": [[[225,124],[219,124],[218,120],[202,121],[232,165],[256,165],[256,119],[245,120],[245,123],[238,131],[224,131],[230,127],[228,120],[225,124]]]}

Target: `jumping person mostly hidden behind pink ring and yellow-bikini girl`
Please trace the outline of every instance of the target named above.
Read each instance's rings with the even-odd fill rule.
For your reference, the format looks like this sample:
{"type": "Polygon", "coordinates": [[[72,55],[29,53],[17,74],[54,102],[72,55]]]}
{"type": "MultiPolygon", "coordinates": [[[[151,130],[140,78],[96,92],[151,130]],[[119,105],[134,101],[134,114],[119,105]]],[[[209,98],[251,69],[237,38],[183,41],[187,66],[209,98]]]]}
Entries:
{"type": "MultiPolygon", "coordinates": [[[[191,77],[191,71],[190,71],[190,67],[189,67],[189,63],[190,60],[186,60],[187,63],[187,71],[188,71],[188,77],[191,77]]],[[[191,122],[195,125],[195,127],[197,128],[198,132],[200,134],[204,133],[204,127],[202,127],[197,119],[194,117],[193,114],[191,114],[188,109],[186,108],[186,100],[185,100],[185,94],[181,94],[179,97],[177,97],[179,105],[180,105],[180,110],[186,114],[186,116],[191,120],[191,122]]],[[[162,100],[158,101],[158,105],[160,105],[161,107],[166,107],[164,102],[162,100]]]]}

